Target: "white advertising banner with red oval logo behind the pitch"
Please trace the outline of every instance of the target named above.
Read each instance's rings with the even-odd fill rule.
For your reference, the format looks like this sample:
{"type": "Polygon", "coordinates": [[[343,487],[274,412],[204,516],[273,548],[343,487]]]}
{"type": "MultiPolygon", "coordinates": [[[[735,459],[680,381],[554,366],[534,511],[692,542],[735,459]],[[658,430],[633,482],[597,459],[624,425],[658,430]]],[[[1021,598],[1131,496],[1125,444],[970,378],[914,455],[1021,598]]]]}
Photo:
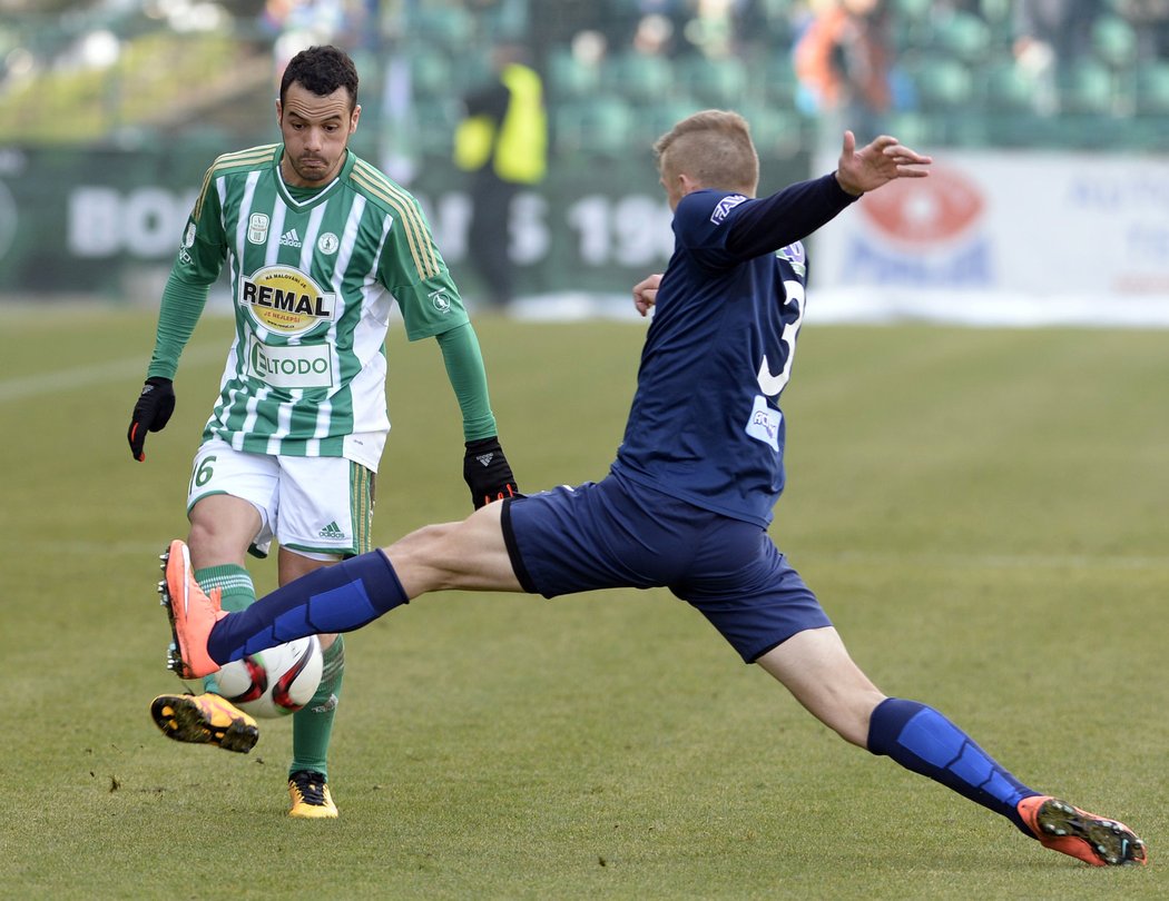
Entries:
{"type": "Polygon", "coordinates": [[[822,228],[810,257],[821,320],[1169,325],[1169,159],[939,153],[929,178],[822,228]]]}

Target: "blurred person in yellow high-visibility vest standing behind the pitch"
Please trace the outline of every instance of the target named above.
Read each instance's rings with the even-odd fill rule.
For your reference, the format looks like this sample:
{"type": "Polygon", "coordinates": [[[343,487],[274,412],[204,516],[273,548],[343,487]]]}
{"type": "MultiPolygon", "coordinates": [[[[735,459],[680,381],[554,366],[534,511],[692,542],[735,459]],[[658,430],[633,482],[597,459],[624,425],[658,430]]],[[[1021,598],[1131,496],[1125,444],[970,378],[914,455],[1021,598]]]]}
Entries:
{"type": "Polygon", "coordinates": [[[491,83],[464,101],[455,165],[471,173],[470,261],[485,283],[487,302],[504,309],[514,294],[511,205],[520,187],[544,180],[548,127],[544,85],[526,64],[524,49],[503,44],[492,63],[491,83]]]}

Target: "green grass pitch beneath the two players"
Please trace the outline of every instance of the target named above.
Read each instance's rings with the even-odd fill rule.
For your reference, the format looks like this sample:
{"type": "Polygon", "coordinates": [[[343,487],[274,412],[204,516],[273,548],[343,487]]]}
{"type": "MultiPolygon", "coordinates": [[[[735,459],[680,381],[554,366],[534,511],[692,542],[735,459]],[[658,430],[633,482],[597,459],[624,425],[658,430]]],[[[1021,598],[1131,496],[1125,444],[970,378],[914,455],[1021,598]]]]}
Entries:
{"type": "MultiPolygon", "coordinates": [[[[0,316],[0,895],[1169,896],[1164,332],[812,320],[784,403],[774,533],[853,657],[1146,838],[1149,867],[1104,871],[844,744],[665,591],[452,592],[350,636],[341,819],[290,822],[289,722],[242,756],[147,714],[177,687],[155,557],[229,335],[200,324],[138,464],[153,320],[0,316]]],[[[602,477],[643,327],[477,327],[521,486],[602,477]]],[[[437,348],[389,359],[382,543],[469,510],[437,348]]]]}

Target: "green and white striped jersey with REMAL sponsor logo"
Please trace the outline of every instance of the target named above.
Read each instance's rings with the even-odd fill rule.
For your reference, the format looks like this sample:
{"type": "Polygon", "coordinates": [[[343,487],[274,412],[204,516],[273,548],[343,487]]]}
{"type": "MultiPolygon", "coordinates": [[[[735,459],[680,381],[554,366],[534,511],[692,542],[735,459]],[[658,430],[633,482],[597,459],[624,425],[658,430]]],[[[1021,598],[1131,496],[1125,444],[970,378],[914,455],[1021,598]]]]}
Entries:
{"type": "Polygon", "coordinates": [[[376,471],[386,444],[386,331],[413,341],[468,321],[417,201],[348,152],[317,189],[284,183],[284,146],[215,160],[175,276],[230,265],[233,341],[203,441],[254,453],[346,457],[376,471]]]}

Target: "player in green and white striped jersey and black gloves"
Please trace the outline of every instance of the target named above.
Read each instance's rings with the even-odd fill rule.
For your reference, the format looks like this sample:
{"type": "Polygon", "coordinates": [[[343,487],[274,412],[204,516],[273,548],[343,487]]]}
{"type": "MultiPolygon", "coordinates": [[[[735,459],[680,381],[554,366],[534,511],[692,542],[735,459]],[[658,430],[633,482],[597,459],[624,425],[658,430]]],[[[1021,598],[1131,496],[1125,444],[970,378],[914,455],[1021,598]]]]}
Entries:
{"type": "MultiPolygon", "coordinates": [[[[230,609],[255,601],[247,553],[279,543],[281,584],[368,552],[374,473],[389,431],[385,339],[396,300],[407,337],[441,347],[463,418],[463,476],[480,507],[517,493],[497,437],[478,339],[417,201],[350,148],[358,74],[336,47],[295,56],[281,82],[283,140],[207,171],[162,292],[154,352],[127,438],[174,410],[179,356],[224,265],[235,339],[187,498],[195,577],[230,609]]],[[[324,674],[293,714],[290,813],[336,817],[327,750],[345,665],[323,636],[324,674]]],[[[178,741],[248,751],[255,720],[216,695],[164,694],[151,712],[178,741]]]]}

